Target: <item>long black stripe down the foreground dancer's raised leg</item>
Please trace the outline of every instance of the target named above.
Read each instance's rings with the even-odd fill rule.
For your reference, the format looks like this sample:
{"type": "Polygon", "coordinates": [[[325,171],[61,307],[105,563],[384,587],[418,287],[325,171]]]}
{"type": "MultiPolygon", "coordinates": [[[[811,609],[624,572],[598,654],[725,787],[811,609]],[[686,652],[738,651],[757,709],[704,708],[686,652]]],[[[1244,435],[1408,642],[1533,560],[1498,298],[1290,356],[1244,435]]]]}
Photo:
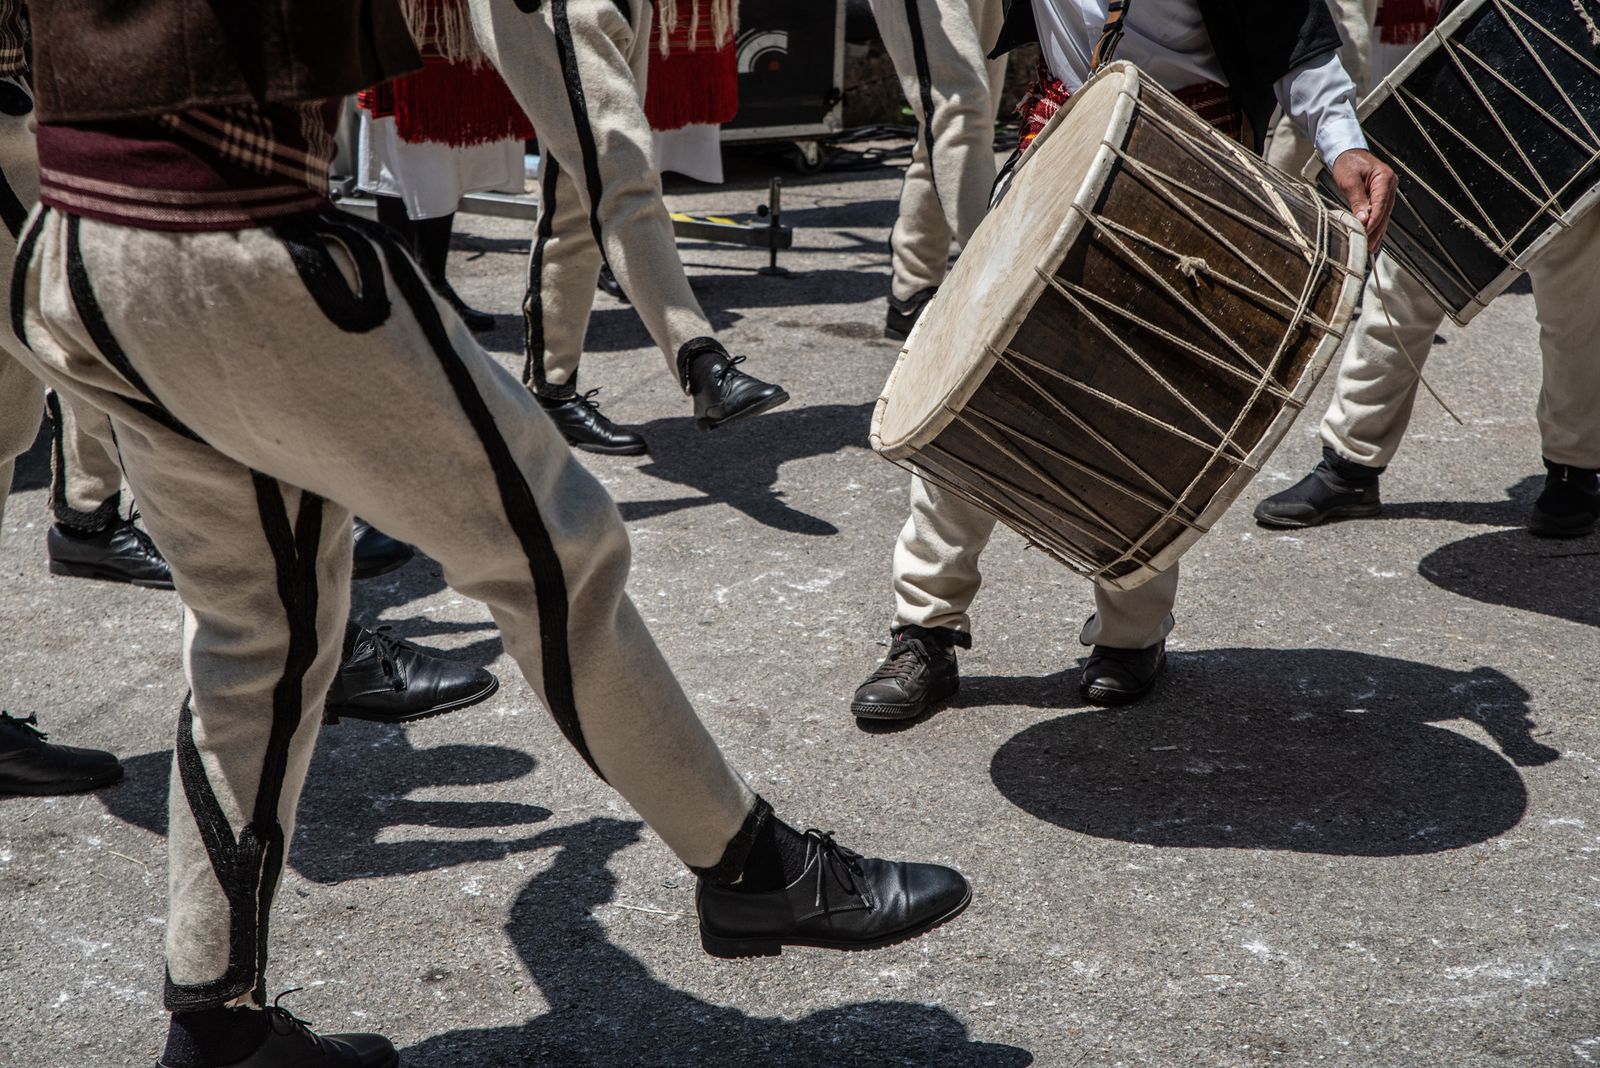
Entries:
{"type": "MultiPolygon", "coordinates": [[[[411,257],[406,256],[406,251],[389,227],[355,216],[333,213],[317,217],[309,224],[309,229],[347,243],[365,237],[382,251],[400,296],[411,309],[411,315],[434,350],[434,357],[438,360],[438,366],[445,373],[451,392],[456,395],[456,401],[467,417],[467,424],[477,435],[478,444],[483,446],[490,470],[494,473],[496,488],[499,489],[501,507],[506,508],[506,521],[510,524],[512,532],[522,544],[523,555],[528,558],[528,571],[533,577],[533,590],[539,611],[544,703],[549,707],[555,726],[562,729],[562,734],[578,750],[578,755],[584,758],[590,771],[603,780],[605,775],[589,751],[589,742],[584,740],[582,724],[578,719],[578,699],[573,692],[573,662],[566,638],[566,576],[562,571],[562,560],[557,556],[555,544],[550,540],[550,532],[539,515],[539,502],[533,496],[533,488],[528,486],[522,468],[517,467],[517,459],[494,424],[494,414],[483,400],[483,393],[478,392],[477,382],[472,381],[467,363],[450,341],[445,321],[438,315],[438,305],[434,304],[432,289],[429,289],[427,283],[418,273],[411,257]]],[[[302,240],[296,227],[278,225],[275,230],[285,241],[302,240]]],[[[310,280],[304,275],[302,280],[310,285],[310,280]]]]}

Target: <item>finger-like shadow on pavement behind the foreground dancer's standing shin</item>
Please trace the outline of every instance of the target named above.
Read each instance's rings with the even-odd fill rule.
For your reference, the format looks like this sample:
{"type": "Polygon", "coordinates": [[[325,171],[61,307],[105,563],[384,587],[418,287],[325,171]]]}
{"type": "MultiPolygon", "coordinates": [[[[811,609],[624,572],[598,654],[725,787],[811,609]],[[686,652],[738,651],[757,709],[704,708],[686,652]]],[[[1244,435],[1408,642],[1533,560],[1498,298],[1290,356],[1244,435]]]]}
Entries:
{"type": "MultiPolygon", "coordinates": [[[[117,819],[165,836],[171,764],[170,750],[125,758],[126,779],[94,796],[117,819]]],[[[510,782],[534,766],[526,753],[499,745],[418,750],[400,727],[355,721],[326,727],[306,779],[288,863],[314,883],[344,883],[526,852],[536,839],[509,831],[542,823],[550,819],[549,809],[512,801],[419,801],[408,795],[510,782]],[[405,827],[507,833],[390,841],[405,827]]]]}

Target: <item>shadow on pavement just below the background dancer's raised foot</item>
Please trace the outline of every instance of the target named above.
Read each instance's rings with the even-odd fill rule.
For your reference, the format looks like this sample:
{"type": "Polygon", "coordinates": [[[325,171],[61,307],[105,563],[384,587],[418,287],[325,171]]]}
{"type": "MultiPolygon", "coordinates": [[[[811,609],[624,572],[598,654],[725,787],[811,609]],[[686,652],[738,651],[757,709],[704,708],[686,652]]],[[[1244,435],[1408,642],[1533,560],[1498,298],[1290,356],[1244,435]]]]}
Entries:
{"type": "Polygon", "coordinates": [[[638,470],[651,478],[694,489],[691,497],[627,500],[618,505],[629,523],[658,515],[725,504],[757,523],[789,534],[826,537],[838,528],[790,505],[774,489],[778,468],[790,460],[827,456],[843,448],[867,448],[872,404],[814,404],[779,408],[738,427],[730,449],[722,432],[704,433],[693,419],[654,419],[643,427],[650,460],[638,470]]]}

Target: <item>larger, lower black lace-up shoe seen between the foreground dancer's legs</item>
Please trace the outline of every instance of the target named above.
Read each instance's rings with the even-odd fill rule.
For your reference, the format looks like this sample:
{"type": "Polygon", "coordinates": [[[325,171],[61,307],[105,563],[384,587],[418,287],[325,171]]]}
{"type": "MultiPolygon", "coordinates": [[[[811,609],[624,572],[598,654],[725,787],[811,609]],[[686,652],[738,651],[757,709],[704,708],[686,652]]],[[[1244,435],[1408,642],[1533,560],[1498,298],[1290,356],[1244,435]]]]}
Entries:
{"type": "Polygon", "coordinates": [[[323,723],[408,723],[475,705],[499,679],[470,664],[429,656],[410,641],[355,624],[344,628],[344,660],[328,689],[323,723]]]}

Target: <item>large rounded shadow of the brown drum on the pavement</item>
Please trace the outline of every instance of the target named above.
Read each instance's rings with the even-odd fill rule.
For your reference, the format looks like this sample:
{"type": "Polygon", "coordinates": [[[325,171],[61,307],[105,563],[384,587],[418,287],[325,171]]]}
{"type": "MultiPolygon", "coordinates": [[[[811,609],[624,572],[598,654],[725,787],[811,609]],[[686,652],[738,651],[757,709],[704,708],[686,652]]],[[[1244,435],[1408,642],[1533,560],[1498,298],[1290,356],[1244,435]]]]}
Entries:
{"type": "Polygon", "coordinates": [[[1533,739],[1528,692],[1491,668],[1216,649],[1173,654],[1139,705],[1022,731],[990,775],[1018,807],[1096,838],[1390,857],[1510,830],[1528,804],[1514,764],[1557,756],[1533,739]],[[1504,756],[1432,726],[1450,719],[1504,756]]]}

